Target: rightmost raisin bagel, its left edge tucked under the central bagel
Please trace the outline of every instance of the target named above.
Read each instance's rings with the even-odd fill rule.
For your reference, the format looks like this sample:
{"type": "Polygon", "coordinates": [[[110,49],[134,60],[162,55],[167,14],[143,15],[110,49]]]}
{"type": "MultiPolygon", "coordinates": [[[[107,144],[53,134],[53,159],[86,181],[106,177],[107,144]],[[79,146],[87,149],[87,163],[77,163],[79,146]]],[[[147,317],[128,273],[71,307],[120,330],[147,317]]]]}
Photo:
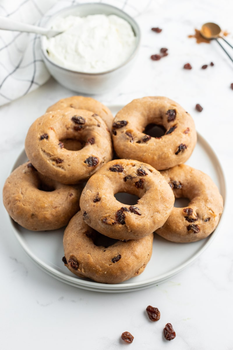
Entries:
{"type": "Polygon", "coordinates": [[[188,165],[163,170],[175,198],[188,198],[185,208],[173,208],[158,235],[173,242],[194,242],[205,238],[216,228],[223,212],[223,198],[212,179],[188,165]]]}

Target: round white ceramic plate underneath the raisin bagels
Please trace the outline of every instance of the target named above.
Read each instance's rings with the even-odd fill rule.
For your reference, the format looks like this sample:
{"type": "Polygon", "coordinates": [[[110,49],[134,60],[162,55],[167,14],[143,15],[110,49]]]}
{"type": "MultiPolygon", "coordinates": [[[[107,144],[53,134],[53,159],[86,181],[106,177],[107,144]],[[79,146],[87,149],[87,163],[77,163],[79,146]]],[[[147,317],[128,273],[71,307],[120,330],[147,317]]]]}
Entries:
{"type": "MultiPolygon", "coordinates": [[[[113,114],[121,108],[122,106],[110,106],[113,114]]],[[[26,161],[27,156],[23,151],[17,158],[12,170],[26,161]]],[[[199,134],[194,152],[186,164],[208,174],[217,184],[225,202],[225,179],[221,165],[209,144],[199,134]]],[[[173,243],[159,237],[158,235],[154,235],[153,253],[145,271],[137,277],[114,285],[81,279],[72,274],[67,267],[64,266],[61,260],[64,256],[64,229],[34,232],[22,228],[12,219],[10,219],[10,221],[15,236],[19,240],[24,251],[36,263],[36,265],[42,268],[46,273],[75,287],[99,292],[114,293],[147,288],[165,281],[182,271],[211,244],[217,233],[220,231],[220,224],[223,221],[223,215],[220,218],[216,230],[209,237],[198,242],[173,243]]]]}

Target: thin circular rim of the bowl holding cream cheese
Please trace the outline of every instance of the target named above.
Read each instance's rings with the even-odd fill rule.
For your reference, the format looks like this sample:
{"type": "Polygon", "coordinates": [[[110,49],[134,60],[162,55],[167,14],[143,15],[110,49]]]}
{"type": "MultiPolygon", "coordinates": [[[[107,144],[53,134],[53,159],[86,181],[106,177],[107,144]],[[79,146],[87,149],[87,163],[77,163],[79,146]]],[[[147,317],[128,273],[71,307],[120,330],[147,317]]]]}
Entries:
{"type": "MultiPolygon", "coordinates": [[[[50,64],[52,64],[53,66],[57,67],[57,68],[60,68],[64,71],[67,71],[67,72],[71,72],[71,73],[78,73],[78,74],[81,74],[81,75],[85,75],[85,76],[98,76],[98,75],[105,75],[105,74],[108,74],[110,72],[114,72],[115,70],[123,67],[124,65],[126,65],[127,63],[129,63],[132,58],[136,55],[138,49],[139,49],[139,46],[140,46],[140,41],[141,41],[141,30],[140,30],[140,27],[138,25],[138,23],[134,20],[134,18],[132,18],[128,13],[124,12],[122,9],[116,7],[116,6],[112,6],[108,3],[104,3],[104,2],[87,2],[87,3],[80,3],[80,4],[76,4],[76,5],[73,5],[73,6],[68,6],[68,7],[64,7],[63,9],[60,9],[58,10],[56,13],[54,13],[53,15],[51,15],[51,17],[45,22],[45,26],[46,26],[46,23],[48,23],[49,21],[51,21],[53,18],[59,16],[59,14],[62,14],[63,12],[65,12],[66,10],[68,9],[72,9],[72,8],[77,8],[77,7],[82,7],[82,6],[89,6],[89,5],[97,5],[97,6],[100,6],[100,7],[108,7],[108,8],[112,8],[112,9],[117,9],[117,11],[123,13],[126,17],[128,17],[132,23],[133,23],[133,26],[130,24],[130,26],[132,27],[132,30],[134,32],[134,35],[137,37],[137,43],[135,45],[135,48],[134,50],[132,51],[131,55],[123,62],[121,63],[120,65],[116,66],[115,68],[112,68],[110,70],[106,70],[106,71],[102,71],[102,72],[97,72],[97,73],[88,73],[88,72],[82,72],[82,71],[78,71],[78,70],[73,70],[73,69],[69,69],[69,68],[65,68],[57,63],[55,63],[54,61],[52,61],[52,59],[49,58],[49,55],[46,55],[45,53],[45,48],[43,47],[43,38],[44,36],[41,35],[40,37],[40,45],[41,45],[41,52],[42,52],[42,58],[47,60],[50,64]],[[135,29],[134,28],[137,28],[137,31],[138,31],[138,34],[136,35],[135,33],[135,29]]],[[[114,13],[113,13],[114,14],[114,13]]],[[[44,14],[43,16],[43,19],[46,18],[46,13],[44,14]]],[[[42,20],[43,20],[42,19],[42,20]]],[[[126,20],[127,21],[127,20],[126,20]]]]}

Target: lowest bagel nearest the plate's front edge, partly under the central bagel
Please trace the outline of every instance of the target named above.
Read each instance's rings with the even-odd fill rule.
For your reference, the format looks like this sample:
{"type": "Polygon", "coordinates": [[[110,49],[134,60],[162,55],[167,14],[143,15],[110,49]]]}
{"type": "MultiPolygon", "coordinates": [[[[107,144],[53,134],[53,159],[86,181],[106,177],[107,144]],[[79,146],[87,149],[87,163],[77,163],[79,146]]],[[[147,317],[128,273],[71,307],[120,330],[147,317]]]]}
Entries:
{"type": "Polygon", "coordinates": [[[63,262],[71,272],[96,282],[120,283],[144,271],[152,254],[153,233],[127,242],[114,240],[107,247],[97,244],[100,236],[85,224],[81,211],[71,219],[63,238],[63,262]]]}

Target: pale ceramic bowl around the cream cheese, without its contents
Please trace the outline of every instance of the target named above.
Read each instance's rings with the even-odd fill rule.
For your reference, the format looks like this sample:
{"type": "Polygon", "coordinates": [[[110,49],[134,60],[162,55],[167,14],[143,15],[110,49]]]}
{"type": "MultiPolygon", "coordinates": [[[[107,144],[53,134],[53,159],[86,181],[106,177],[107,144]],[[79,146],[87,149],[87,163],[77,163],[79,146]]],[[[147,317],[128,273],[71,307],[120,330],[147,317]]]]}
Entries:
{"type": "Polygon", "coordinates": [[[66,17],[69,15],[76,15],[85,17],[93,14],[114,14],[123,18],[131,25],[136,36],[136,45],[132,54],[123,64],[114,69],[101,73],[83,73],[64,68],[63,66],[53,62],[49,57],[45,48],[45,37],[41,37],[42,58],[51,75],[61,85],[75,92],[81,92],[84,94],[100,94],[109,91],[117,84],[121,83],[132,68],[140,43],[140,28],[134,19],[119,8],[105,3],[83,3],[65,8],[53,15],[49,21],[46,22],[45,26],[49,28],[51,26],[51,22],[53,22],[54,18],[57,16],[66,17]]]}

